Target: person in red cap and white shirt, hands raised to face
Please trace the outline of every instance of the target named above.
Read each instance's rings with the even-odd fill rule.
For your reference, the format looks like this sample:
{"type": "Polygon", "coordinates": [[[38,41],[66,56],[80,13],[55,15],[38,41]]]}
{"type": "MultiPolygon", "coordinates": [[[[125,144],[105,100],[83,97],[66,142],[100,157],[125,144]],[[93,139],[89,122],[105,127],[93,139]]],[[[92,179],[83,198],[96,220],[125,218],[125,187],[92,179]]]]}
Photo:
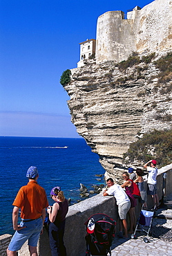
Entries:
{"type": "Polygon", "coordinates": [[[155,205],[155,210],[159,208],[159,199],[157,196],[157,161],[155,160],[150,160],[147,163],[145,163],[144,168],[147,169],[149,172],[148,174],[148,192],[147,194],[151,194],[153,198],[153,202],[155,205]],[[151,166],[149,166],[151,165],[151,166]]]}

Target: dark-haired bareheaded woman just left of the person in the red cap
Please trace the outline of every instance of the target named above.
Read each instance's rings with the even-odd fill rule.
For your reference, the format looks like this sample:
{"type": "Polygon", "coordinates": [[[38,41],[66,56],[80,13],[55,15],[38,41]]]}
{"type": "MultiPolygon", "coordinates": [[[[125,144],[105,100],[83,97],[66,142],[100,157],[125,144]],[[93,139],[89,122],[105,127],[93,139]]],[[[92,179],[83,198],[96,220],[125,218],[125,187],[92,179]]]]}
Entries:
{"type": "Polygon", "coordinates": [[[137,184],[140,190],[141,201],[140,200],[139,201],[140,203],[142,203],[144,208],[147,208],[147,205],[146,205],[147,196],[146,196],[146,190],[144,189],[144,179],[142,178],[144,172],[142,169],[137,168],[136,174],[137,174],[137,178],[133,182],[137,184]]]}

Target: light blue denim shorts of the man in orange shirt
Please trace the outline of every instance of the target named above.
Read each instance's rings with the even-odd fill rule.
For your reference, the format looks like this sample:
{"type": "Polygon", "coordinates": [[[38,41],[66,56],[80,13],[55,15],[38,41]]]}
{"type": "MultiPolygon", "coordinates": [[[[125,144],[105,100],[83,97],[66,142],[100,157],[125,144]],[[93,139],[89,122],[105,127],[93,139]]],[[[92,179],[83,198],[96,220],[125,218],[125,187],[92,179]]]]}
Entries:
{"type": "Polygon", "coordinates": [[[33,221],[21,221],[20,226],[26,226],[21,230],[17,230],[15,235],[13,235],[10,244],[8,246],[9,250],[17,251],[21,249],[21,246],[28,240],[28,246],[37,246],[37,241],[41,229],[43,227],[42,218],[35,219],[33,221]]]}

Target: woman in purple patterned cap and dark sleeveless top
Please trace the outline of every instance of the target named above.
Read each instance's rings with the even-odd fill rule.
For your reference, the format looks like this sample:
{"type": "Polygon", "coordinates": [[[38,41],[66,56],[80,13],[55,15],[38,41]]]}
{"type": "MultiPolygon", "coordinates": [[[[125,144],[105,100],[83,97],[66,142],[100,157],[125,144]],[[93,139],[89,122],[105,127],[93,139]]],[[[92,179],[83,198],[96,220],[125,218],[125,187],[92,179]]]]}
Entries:
{"type": "Polygon", "coordinates": [[[64,228],[66,214],[68,213],[68,201],[64,197],[64,192],[60,187],[52,188],[51,198],[55,201],[52,206],[48,206],[49,214],[49,239],[52,256],[66,256],[64,246],[64,228]]]}

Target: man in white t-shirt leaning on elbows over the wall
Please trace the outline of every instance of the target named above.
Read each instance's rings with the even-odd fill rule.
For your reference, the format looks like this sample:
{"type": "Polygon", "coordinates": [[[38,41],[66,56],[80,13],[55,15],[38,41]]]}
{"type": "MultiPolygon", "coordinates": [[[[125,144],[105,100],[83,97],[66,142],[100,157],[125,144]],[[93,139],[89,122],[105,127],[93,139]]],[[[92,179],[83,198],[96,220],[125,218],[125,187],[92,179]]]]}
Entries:
{"type": "Polygon", "coordinates": [[[128,238],[127,232],[127,222],[126,222],[126,214],[131,207],[131,202],[128,199],[128,196],[122,190],[121,186],[118,184],[114,184],[113,179],[109,178],[106,181],[108,188],[104,190],[104,196],[114,196],[118,205],[118,213],[120,215],[120,237],[123,237],[123,228],[124,228],[124,238],[128,238]]]}

